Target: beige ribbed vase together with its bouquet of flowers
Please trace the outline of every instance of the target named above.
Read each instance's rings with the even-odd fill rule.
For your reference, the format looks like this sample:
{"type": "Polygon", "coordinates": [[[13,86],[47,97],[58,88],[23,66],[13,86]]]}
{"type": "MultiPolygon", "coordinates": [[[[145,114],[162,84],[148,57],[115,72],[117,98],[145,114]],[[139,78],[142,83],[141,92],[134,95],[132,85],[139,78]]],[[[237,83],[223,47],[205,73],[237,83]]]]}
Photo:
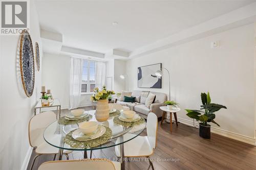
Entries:
{"type": "Polygon", "coordinates": [[[114,91],[106,90],[106,86],[99,90],[98,87],[94,88],[94,94],[91,95],[91,101],[97,101],[95,117],[99,122],[105,122],[109,118],[109,102],[108,96],[115,94],[114,91]]]}

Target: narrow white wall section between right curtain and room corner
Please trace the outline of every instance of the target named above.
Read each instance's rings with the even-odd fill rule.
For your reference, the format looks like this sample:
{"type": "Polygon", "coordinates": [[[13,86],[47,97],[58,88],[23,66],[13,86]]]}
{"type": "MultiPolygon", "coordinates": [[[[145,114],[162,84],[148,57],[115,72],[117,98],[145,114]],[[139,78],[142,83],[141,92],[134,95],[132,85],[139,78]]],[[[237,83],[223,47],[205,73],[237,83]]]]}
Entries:
{"type": "Polygon", "coordinates": [[[114,91],[115,92],[121,92],[122,90],[127,90],[127,80],[120,78],[120,75],[125,74],[126,72],[125,68],[126,68],[125,61],[115,59],[114,61],[114,91]]]}

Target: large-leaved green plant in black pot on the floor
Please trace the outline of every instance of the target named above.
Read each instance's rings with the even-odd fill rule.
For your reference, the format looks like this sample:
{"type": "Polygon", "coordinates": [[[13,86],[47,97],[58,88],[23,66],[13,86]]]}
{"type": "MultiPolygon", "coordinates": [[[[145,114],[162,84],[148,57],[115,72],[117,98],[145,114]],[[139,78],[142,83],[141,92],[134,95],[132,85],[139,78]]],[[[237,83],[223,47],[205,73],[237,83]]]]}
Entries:
{"type": "Polygon", "coordinates": [[[185,109],[187,111],[187,116],[190,118],[195,118],[199,123],[199,135],[203,138],[210,139],[210,125],[208,123],[214,123],[217,126],[220,126],[215,122],[216,115],[215,112],[224,108],[227,109],[226,106],[211,103],[210,93],[201,93],[202,104],[200,110],[190,110],[185,109]]]}

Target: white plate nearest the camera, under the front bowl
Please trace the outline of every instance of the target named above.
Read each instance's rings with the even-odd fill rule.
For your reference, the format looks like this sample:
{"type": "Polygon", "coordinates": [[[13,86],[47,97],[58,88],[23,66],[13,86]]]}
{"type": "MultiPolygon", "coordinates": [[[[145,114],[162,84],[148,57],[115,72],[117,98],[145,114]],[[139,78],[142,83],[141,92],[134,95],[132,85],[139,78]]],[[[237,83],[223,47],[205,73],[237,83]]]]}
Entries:
{"type": "Polygon", "coordinates": [[[84,135],[81,130],[78,128],[76,129],[73,133],[72,133],[72,137],[76,140],[80,140],[80,141],[86,141],[86,140],[92,140],[92,139],[96,139],[100,136],[102,136],[105,132],[106,132],[106,128],[103,126],[98,126],[98,129],[96,130],[96,134],[90,136],[90,135],[84,135]],[[84,138],[83,138],[84,137],[84,138]],[[90,137],[90,138],[89,138],[90,137]]]}

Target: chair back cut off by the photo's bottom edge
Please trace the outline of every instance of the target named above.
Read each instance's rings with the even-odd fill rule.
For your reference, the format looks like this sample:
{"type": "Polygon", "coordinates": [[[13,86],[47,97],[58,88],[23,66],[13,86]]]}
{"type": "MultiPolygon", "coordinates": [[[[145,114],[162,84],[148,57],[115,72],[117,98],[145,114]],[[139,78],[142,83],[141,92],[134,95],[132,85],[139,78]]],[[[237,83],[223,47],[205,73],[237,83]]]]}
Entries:
{"type": "Polygon", "coordinates": [[[120,170],[120,162],[107,159],[61,160],[42,163],[38,170],[120,170]]]}

